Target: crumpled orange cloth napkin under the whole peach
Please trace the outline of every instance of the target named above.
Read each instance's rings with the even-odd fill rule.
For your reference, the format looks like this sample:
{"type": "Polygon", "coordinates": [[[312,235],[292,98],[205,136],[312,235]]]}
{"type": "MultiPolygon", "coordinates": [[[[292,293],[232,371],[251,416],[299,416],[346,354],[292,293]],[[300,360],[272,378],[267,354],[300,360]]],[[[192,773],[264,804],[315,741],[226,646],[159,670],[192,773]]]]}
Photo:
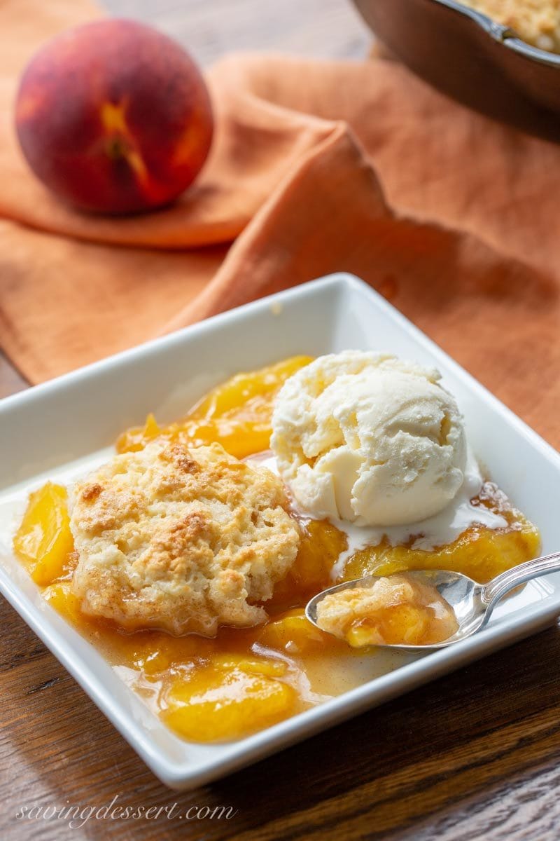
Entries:
{"type": "Polygon", "coordinates": [[[0,0],[0,337],[24,374],[343,269],[560,444],[560,148],[391,61],[237,56],[207,73],[196,185],[156,214],[79,214],[29,173],[11,114],[36,46],[96,14],[0,0]]]}

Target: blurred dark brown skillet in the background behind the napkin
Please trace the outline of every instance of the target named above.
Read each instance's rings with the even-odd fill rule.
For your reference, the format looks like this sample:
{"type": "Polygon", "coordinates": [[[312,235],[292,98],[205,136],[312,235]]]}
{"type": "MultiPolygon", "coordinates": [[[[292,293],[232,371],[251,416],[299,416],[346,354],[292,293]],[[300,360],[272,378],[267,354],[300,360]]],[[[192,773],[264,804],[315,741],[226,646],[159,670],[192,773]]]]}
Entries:
{"type": "Polygon", "coordinates": [[[454,0],[353,0],[400,61],[442,93],[560,141],[560,55],[454,0]]]}

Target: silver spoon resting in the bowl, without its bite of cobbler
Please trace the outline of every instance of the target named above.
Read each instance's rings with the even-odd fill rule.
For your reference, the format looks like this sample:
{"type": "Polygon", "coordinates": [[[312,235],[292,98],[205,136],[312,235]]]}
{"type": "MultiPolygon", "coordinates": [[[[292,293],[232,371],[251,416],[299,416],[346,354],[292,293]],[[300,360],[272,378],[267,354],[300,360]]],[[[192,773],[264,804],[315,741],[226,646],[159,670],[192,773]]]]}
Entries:
{"type": "MultiPolygon", "coordinates": [[[[379,648],[398,648],[400,651],[418,653],[419,651],[437,651],[438,648],[447,648],[449,645],[460,642],[462,639],[472,637],[480,631],[489,620],[492,611],[506,593],[524,584],[526,581],[538,578],[545,573],[560,572],[560,552],[552,555],[544,555],[534,561],[520,563],[513,569],[496,576],[488,584],[477,584],[473,579],[461,573],[449,572],[445,569],[417,569],[406,572],[421,584],[429,584],[435,587],[440,595],[453,608],[458,621],[458,631],[442,643],[432,645],[389,645],[385,644],[379,648]]],[[[317,593],[306,606],[307,619],[316,627],[317,605],[328,593],[338,593],[340,590],[348,590],[351,587],[363,587],[372,584],[376,578],[381,576],[369,575],[365,578],[344,581],[343,584],[336,584],[328,590],[317,593]]],[[[390,576],[384,576],[390,578],[390,576]]]]}

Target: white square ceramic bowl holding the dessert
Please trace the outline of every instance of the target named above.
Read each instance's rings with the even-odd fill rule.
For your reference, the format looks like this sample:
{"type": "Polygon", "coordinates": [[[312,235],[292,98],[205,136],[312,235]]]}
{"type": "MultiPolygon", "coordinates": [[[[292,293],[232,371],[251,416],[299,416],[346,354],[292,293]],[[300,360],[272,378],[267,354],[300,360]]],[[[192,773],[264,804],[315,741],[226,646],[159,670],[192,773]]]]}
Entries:
{"type": "MultiPolygon", "coordinates": [[[[0,507],[61,466],[114,442],[154,411],[170,421],[224,378],[308,353],[387,350],[436,365],[456,395],[474,452],[542,532],[543,553],[560,547],[554,500],[560,456],[414,325],[347,274],[306,283],[217,315],[0,401],[0,507]]],[[[381,704],[550,625],[560,614],[560,575],[529,584],[495,612],[484,632],[302,712],[249,738],[187,743],[144,706],[53,609],[0,534],[0,590],[160,780],[188,789],[381,704]]]]}

